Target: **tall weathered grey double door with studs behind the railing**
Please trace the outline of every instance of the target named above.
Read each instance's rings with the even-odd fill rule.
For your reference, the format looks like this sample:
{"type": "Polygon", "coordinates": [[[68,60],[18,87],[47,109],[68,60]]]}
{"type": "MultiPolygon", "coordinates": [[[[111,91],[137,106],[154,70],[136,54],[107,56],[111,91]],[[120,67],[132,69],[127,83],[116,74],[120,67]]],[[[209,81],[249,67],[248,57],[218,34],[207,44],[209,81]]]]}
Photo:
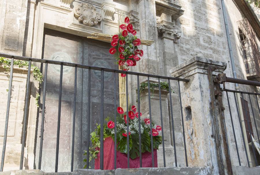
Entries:
{"type": "MultiPolygon", "coordinates": [[[[54,30],[44,31],[43,59],[98,66],[117,69],[113,55],[109,54],[110,44],[87,39],[54,30]]],[[[44,66],[42,68],[44,70],[44,66]]],[[[74,144],[74,170],[83,168],[84,150],[88,142],[88,82],[90,79],[90,133],[100,123],[101,102],[101,71],[77,68],[77,95],[75,118],[75,144],[74,144]]],[[[43,71],[44,75],[44,71],[43,71]]],[[[62,102],[60,122],[60,146],[58,171],[70,171],[71,149],[73,137],[73,108],[74,108],[74,81],[75,68],[63,66],[62,75],[62,102]]],[[[118,83],[118,76],[116,76],[118,83]]],[[[104,72],[104,118],[113,116],[114,100],[114,74],[104,72]]],[[[42,170],[53,172],[55,170],[55,153],[57,140],[57,116],[59,102],[60,65],[49,64],[46,81],[46,102],[44,116],[44,134],[42,150],[42,170]]],[[[41,99],[42,100],[42,99],[41,99]]],[[[39,124],[40,126],[40,124],[39,124]]],[[[92,167],[94,164],[91,163],[92,167]]]]}

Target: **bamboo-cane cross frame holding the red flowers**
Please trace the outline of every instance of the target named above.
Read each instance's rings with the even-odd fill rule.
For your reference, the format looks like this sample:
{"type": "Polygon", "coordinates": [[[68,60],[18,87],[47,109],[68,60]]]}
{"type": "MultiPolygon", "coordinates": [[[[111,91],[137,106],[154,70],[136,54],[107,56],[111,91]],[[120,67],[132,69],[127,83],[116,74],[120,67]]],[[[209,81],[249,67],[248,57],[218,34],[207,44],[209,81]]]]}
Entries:
{"type": "MultiPolygon", "coordinates": [[[[126,14],[125,12],[119,12],[117,10],[118,14],[118,32],[122,32],[122,29],[120,29],[121,24],[126,24],[125,23],[125,17],[126,14]]],[[[111,42],[112,41],[112,35],[104,34],[104,33],[91,33],[92,36],[88,36],[87,38],[91,38],[94,40],[99,40],[103,42],[111,42]]],[[[154,41],[152,40],[141,40],[141,45],[146,45],[146,46],[151,46],[154,41]]],[[[118,69],[122,70],[122,66],[118,65],[118,69]]],[[[120,107],[123,108],[124,111],[127,109],[126,105],[126,77],[121,77],[120,74],[118,75],[119,78],[119,105],[120,107]]]]}

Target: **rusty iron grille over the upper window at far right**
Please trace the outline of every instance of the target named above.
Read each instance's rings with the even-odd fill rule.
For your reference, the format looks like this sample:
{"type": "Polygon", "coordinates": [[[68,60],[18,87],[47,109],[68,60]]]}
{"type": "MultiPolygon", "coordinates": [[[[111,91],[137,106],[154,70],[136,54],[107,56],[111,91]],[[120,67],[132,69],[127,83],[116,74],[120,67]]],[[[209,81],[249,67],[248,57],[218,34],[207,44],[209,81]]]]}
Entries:
{"type": "Polygon", "coordinates": [[[260,55],[256,42],[255,31],[247,19],[237,22],[241,41],[242,54],[249,80],[260,81],[260,55]]]}

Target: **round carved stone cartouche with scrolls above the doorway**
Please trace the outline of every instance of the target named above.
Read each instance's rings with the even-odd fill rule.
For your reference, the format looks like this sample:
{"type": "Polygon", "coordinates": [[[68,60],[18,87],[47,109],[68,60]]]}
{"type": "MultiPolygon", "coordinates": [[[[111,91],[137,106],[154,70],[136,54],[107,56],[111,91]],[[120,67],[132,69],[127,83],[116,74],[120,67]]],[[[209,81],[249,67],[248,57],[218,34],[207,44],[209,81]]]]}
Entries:
{"type": "Polygon", "coordinates": [[[74,16],[78,18],[79,23],[93,26],[97,25],[101,20],[101,14],[96,12],[96,7],[89,3],[81,3],[74,9],[74,16]]]}

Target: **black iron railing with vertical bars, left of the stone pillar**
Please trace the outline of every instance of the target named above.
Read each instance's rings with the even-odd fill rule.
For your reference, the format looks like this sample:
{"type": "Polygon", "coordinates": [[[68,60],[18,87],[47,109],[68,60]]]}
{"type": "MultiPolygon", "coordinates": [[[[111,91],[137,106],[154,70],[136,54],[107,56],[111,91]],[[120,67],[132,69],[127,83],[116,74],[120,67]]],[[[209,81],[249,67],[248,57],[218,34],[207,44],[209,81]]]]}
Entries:
{"type": "MultiPolygon", "coordinates": [[[[22,130],[22,149],[21,149],[21,160],[20,160],[20,169],[23,168],[23,161],[24,161],[24,149],[25,149],[25,138],[27,135],[27,120],[28,120],[28,109],[29,109],[29,82],[30,82],[30,69],[32,62],[34,63],[40,63],[44,64],[44,75],[43,75],[43,82],[41,84],[42,88],[42,113],[41,113],[41,123],[39,123],[40,127],[40,147],[39,147],[39,160],[38,160],[38,169],[41,169],[42,166],[42,149],[43,149],[43,140],[44,140],[44,115],[45,115],[45,102],[46,102],[46,88],[47,88],[47,72],[48,72],[48,66],[49,65],[60,65],[60,83],[59,83],[59,95],[58,95],[58,114],[57,114],[57,139],[56,139],[56,153],[55,153],[55,172],[58,171],[58,161],[59,161],[59,147],[60,147],[60,126],[61,126],[61,106],[62,106],[62,79],[63,79],[63,68],[64,66],[70,66],[75,68],[75,78],[74,78],[74,101],[73,101],[73,131],[72,131],[72,145],[71,145],[71,171],[73,171],[73,165],[74,165],[74,145],[75,145],[75,118],[76,118],[76,96],[77,96],[77,69],[82,68],[85,70],[88,70],[88,105],[87,105],[87,142],[86,142],[86,148],[87,148],[87,155],[89,155],[89,147],[90,147],[90,116],[91,116],[91,109],[90,109],[90,98],[91,98],[91,71],[90,70],[97,70],[100,71],[101,76],[101,89],[100,89],[100,124],[101,124],[101,135],[100,135],[100,169],[103,169],[103,161],[104,161],[104,150],[103,150],[103,124],[104,124],[104,72],[112,72],[113,74],[113,84],[114,84],[114,120],[115,120],[115,140],[117,137],[116,134],[116,107],[118,106],[116,104],[116,97],[117,92],[116,89],[118,88],[117,85],[117,76],[118,73],[126,74],[126,106],[128,107],[128,77],[129,75],[135,75],[136,81],[137,81],[137,98],[138,98],[138,124],[139,124],[139,151],[140,151],[140,167],[142,167],[142,149],[141,149],[141,129],[140,129],[140,76],[146,77],[148,82],[148,104],[149,104],[149,117],[150,120],[152,120],[152,112],[151,112],[151,92],[150,92],[150,78],[158,79],[159,83],[159,105],[160,105],[160,119],[161,119],[161,127],[162,127],[162,149],[163,149],[163,160],[164,160],[164,167],[166,167],[166,157],[165,157],[165,146],[164,146],[164,124],[163,124],[163,114],[162,114],[162,104],[161,104],[161,80],[165,79],[168,80],[169,85],[169,101],[170,101],[170,118],[171,118],[171,127],[172,127],[172,139],[173,139],[173,147],[174,147],[174,160],[175,160],[175,166],[177,166],[177,154],[176,154],[176,144],[175,144],[175,133],[174,133],[174,117],[173,117],[173,104],[172,104],[172,94],[171,94],[171,85],[170,81],[176,81],[178,83],[178,91],[179,91],[179,103],[180,103],[180,110],[181,113],[181,121],[182,121],[182,133],[183,133],[183,144],[184,144],[184,151],[185,151],[185,163],[186,166],[188,166],[187,163],[187,152],[186,152],[186,143],[185,143],[185,132],[184,132],[184,122],[183,122],[183,111],[182,111],[182,103],[181,103],[181,91],[180,91],[180,81],[188,82],[188,79],[180,79],[180,78],[174,78],[174,77],[165,77],[165,76],[159,76],[159,75],[151,75],[151,74],[145,74],[145,73],[139,73],[139,72],[131,72],[131,71],[123,71],[123,70],[116,70],[116,69],[109,69],[109,68],[102,68],[102,67],[94,67],[94,66],[87,66],[82,64],[74,64],[74,63],[68,63],[68,62],[60,62],[60,61],[53,61],[53,60],[46,60],[46,59],[36,59],[36,58],[30,58],[30,57],[21,57],[21,56],[15,56],[15,55],[8,55],[0,53],[1,57],[10,58],[11,59],[11,66],[10,66],[10,81],[9,81],[9,91],[8,91],[8,103],[7,103],[7,110],[6,110],[6,119],[5,119],[5,130],[4,130],[4,140],[3,140],[3,150],[2,150],[2,158],[1,158],[1,171],[3,171],[4,167],[4,160],[5,160],[5,149],[6,149],[6,142],[7,142],[7,132],[8,132],[8,119],[9,119],[9,111],[10,111],[10,100],[11,100],[11,94],[12,94],[12,79],[13,79],[13,66],[14,66],[14,59],[18,60],[24,60],[28,61],[28,74],[27,74],[27,83],[26,83],[26,92],[25,92],[25,110],[23,115],[23,130],[22,130]]],[[[43,66],[41,66],[43,67],[43,66]]],[[[42,71],[42,70],[41,70],[42,71]]],[[[43,72],[43,71],[42,71],[43,72]]],[[[129,118],[128,118],[128,109],[127,109],[127,133],[129,132],[129,118]]],[[[152,124],[150,123],[150,130],[152,130],[152,124]]],[[[36,141],[35,141],[36,142],[36,141]]],[[[116,168],[116,142],[114,144],[114,167],[116,168]]],[[[151,134],[151,152],[153,155],[153,138],[151,134]]],[[[53,162],[54,163],[54,162],[53,162]]],[[[87,168],[89,167],[89,156],[87,156],[87,168]]],[[[127,165],[129,168],[129,135],[127,134],[127,165]]],[[[154,159],[152,156],[152,165],[154,167],[154,159]]]]}

